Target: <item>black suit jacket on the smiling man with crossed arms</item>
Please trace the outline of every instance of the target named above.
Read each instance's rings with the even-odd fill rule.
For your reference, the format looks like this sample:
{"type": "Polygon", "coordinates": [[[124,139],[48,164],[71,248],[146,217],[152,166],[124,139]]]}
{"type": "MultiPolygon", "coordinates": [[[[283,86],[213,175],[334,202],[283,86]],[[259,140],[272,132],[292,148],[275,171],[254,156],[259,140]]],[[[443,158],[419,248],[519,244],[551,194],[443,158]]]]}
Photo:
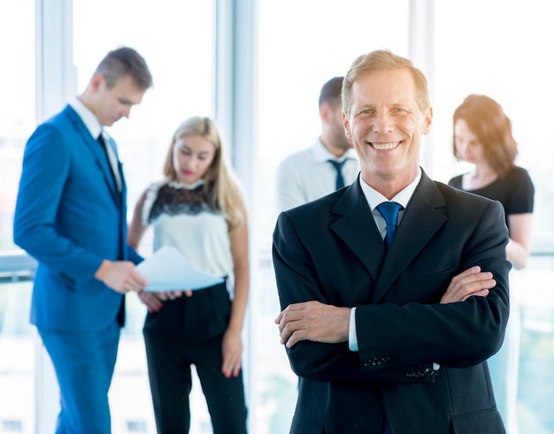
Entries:
{"type": "Polygon", "coordinates": [[[388,255],[359,182],[281,213],[273,263],[281,308],[300,301],[357,307],[359,352],[301,341],[293,433],[504,432],[486,359],[508,320],[508,232],[499,202],[425,173],[388,255]],[[450,279],[489,270],[489,297],[439,304],[450,279]],[[440,363],[435,371],[433,362],[440,363]]]}

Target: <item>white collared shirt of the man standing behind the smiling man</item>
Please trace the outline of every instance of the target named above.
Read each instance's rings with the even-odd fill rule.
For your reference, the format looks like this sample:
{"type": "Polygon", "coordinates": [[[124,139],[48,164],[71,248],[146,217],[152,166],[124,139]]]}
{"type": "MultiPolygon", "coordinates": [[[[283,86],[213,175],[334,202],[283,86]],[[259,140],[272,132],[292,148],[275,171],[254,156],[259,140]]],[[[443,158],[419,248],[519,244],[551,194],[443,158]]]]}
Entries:
{"type": "Polygon", "coordinates": [[[344,185],[349,186],[359,172],[358,155],[353,148],[340,158],[331,154],[318,139],[311,148],[285,158],[277,170],[277,208],[284,211],[312,202],[336,187],[336,170],[328,160],[342,162],[344,185]]]}

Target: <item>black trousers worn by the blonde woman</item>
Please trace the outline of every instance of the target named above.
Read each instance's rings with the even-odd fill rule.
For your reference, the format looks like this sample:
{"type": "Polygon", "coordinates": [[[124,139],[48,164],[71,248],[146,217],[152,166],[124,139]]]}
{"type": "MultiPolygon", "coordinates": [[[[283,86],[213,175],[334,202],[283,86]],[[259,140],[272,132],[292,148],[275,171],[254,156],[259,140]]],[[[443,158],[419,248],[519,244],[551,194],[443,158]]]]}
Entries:
{"type": "Polygon", "coordinates": [[[221,372],[223,333],[231,301],[225,284],[165,301],[149,313],[143,328],[150,392],[158,433],[189,432],[190,365],[196,372],[212,418],[213,434],[246,434],[242,370],[238,377],[221,372]]]}

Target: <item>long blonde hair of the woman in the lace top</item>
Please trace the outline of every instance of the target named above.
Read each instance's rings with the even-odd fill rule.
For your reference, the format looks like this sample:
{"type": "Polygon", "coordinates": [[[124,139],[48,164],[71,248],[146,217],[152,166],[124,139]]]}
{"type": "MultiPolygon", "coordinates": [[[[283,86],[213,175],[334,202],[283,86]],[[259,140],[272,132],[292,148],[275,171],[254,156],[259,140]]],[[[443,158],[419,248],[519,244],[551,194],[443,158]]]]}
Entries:
{"type": "Polygon", "coordinates": [[[245,221],[242,192],[235,173],[227,167],[221,133],[211,118],[195,116],[177,127],[165,158],[164,176],[168,180],[177,180],[177,172],[173,167],[173,146],[175,141],[192,135],[203,137],[215,147],[212,164],[203,176],[204,189],[212,209],[219,209],[223,213],[229,224],[229,232],[234,232],[245,221]]]}

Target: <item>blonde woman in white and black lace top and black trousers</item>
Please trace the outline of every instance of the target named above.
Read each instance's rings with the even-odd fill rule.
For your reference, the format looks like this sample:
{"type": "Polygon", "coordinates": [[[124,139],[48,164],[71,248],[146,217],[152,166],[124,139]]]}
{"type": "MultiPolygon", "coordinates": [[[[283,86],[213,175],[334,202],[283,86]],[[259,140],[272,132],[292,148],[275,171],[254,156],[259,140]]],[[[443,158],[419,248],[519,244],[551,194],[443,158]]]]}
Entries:
{"type": "Polygon", "coordinates": [[[212,119],[189,118],[177,128],[163,172],[165,179],[147,188],[136,204],[129,244],[138,247],[152,225],[154,250],[176,247],[197,269],[225,282],[197,291],[139,293],[148,307],[143,334],[158,432],[189,432],[194,364],[214,434],[245,433],[246,209],[212,119]]]}

